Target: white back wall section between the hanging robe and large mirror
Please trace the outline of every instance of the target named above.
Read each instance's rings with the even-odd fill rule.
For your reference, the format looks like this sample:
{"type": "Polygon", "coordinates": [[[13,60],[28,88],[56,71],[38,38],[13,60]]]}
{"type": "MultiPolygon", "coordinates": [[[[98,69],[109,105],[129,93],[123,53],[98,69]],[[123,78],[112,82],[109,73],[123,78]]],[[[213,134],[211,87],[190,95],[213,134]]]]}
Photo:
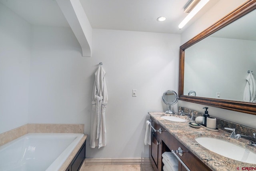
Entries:
{"type": "Polygon", "coordinates": [[[148,111],[166,110],[165,90],[178,91],[179,43],[175,34],[93,30],[92,58],[86,61],[93,66],[90,76],[99,62],[106,70],[108,138],[106,147],[86,151],[88,157],[148,157],[145,121],[148,111]]]}

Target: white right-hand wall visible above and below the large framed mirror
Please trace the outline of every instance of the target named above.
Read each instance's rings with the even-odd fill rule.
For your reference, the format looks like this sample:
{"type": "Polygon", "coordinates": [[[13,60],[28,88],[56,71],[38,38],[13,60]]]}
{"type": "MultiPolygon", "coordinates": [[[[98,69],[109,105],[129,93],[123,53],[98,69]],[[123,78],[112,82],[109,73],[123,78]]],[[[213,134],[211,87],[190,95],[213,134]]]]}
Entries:
{"type": "MultiPolygon", "coordinates": [[[[197,20],[192,26],[186,29],[181,35],[181,42],[184,44],[196,34],[202,32],[208,26],[215,23],[217,20],[234,10],[240,4],[246,0],[220,0],[213,8],[211,8],[204,16],[197,20]]],[[[179,101],[180,106],[187,107],[189,109],[194,109],[196,111],[204,112],[204,105],[199,105],[196,103],[189,103],[185,101],[179,101]]],[[[220,117],[228,121],[233,121],[242,125],[246,125],[252,128],[256,128],[255,120],[256,115],[249,115],[247,113],[240,113],[225,109],[220,109],[216,107],[209,107],[209,114],[215,117],[220,117]]]]}

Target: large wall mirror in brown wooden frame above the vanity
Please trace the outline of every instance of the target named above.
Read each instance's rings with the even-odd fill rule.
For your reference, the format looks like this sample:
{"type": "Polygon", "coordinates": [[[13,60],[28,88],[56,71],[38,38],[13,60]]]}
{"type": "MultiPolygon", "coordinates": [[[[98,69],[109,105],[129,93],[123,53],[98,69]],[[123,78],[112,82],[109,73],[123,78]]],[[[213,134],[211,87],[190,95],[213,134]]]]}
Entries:
{"type": "Polygon", "coordinates": [[[255,9],[249,0],[180,46],[179,100],[256,115],[244,98],[248,74],[256,79],[255,9]]]}

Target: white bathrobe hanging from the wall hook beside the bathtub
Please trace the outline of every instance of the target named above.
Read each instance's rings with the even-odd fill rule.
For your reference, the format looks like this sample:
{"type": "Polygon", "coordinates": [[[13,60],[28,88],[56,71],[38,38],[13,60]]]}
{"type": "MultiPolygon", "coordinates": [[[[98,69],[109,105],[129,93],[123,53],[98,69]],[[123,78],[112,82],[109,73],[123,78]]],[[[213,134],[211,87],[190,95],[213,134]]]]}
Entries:
{"type": "Polygon", "coordinates": [[[92,116],[90,147],[106,146],[105,110],[108,103],[108,93],[105,82],[106,72],[100,66],[95,72],[95,81],[92,90],[92,116]]]}

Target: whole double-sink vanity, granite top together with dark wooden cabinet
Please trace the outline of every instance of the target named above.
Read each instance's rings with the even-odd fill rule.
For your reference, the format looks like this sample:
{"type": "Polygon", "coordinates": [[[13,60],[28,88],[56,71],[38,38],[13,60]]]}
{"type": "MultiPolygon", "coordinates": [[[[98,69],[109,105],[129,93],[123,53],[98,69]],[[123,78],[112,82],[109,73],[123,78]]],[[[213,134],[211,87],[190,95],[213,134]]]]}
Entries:
{"type": "MultiPolygon", "coordinates": [[[[223,139],[231,141],[232,143],[239,143],[244,147],[256,153],[255,147],[250,147],[244,142],[236,139],[231,139],[230,133],[220,130],[218,132],[209,131],[202,127],[193,128],[189,126],[190,121],[176,122],[162,119],[161,116],[167,114],[163,112],[149,112],[151,124],[156,129],[152,131],[152,145],[150,145],[150,161],[155,171],[163,171],[162,153],[165,151],[178,150],[181,147],[183,154],[176,155],[191,171],[230,171],[236,170],[238,167],[255,167],[255,164],[244,163],[236,161],[222,155],[218,155],[196,142],[198,137],[213,137],[216,139],[223,139]],[[161,129],[162,133],[157,130],[161,129]]],[[[186,119],[186,116],[174,115],[186,119]]],[[[241,169],[240,168],[240,169],[241,169]]],[[[186,171],[186,168],[179,162],[179,171],[186,171]]]]}

